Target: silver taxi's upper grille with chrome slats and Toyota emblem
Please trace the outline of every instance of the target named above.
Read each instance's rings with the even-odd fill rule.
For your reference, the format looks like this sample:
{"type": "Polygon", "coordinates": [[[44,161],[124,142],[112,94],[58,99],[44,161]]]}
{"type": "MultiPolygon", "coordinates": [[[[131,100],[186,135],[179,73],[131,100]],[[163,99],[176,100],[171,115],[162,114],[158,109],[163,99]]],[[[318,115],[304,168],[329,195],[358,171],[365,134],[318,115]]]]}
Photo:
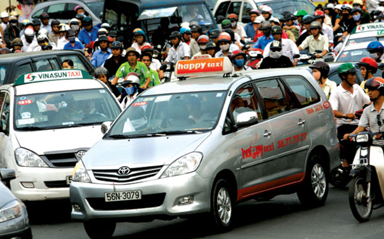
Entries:
{"type": "Polygon", "coordinates": [[[145,178],[155,176],[162,166],[152,166],[144,168],[130,169],[130,173],[127,175],[119,175],[118,170],[92,170],[93,175],[97,180],[108,182],[133,182],[145,178]]]}

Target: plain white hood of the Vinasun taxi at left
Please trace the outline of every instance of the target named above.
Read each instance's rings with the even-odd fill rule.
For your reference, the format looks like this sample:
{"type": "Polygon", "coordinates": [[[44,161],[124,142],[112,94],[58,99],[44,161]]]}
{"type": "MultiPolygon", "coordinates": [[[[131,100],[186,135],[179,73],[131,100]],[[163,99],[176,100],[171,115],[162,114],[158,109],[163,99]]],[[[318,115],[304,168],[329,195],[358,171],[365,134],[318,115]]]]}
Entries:
{"type": "Polygon", "coordinates": [[[38,155],[44,155],[45,152],[91,148],[103,135],[100,127],[100,125],[94,125],[52,130],[18,131],[15,135],[20,147],[29,149],[38,155]]]}

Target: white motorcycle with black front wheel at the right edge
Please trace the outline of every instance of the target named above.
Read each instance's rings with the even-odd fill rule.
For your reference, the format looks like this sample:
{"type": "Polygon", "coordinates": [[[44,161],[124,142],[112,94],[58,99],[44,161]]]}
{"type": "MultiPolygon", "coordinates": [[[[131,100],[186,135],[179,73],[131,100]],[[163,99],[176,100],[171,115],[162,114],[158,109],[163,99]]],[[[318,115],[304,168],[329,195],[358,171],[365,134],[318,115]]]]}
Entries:
{"type": "Polygon", "coordinates": [[[381,147],[373,145],[374,139],[384,138],[384,132],[363,131],[349,138],[361,146],[350,172],[349,205],[355,219],[366,222],[372,210],[384,204],[384,155],[381,147]]]}

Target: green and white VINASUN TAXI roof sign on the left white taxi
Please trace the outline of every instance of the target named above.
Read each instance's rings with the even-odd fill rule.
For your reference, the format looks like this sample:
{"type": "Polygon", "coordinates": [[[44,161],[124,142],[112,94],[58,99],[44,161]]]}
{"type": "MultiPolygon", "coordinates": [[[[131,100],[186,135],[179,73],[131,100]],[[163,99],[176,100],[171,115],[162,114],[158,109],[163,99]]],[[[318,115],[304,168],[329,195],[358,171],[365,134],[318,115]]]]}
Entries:
{"type": "Polygon", "coordinates": [[[71,79],[93,79],[91,75],[85,70],[79,69],[63,69],[63,70],[49,70],[26,73],[19,76],[13,83],[13,86],[24,85],[42,81],[55,81],[55,80],[71,80],[71,79]]]}

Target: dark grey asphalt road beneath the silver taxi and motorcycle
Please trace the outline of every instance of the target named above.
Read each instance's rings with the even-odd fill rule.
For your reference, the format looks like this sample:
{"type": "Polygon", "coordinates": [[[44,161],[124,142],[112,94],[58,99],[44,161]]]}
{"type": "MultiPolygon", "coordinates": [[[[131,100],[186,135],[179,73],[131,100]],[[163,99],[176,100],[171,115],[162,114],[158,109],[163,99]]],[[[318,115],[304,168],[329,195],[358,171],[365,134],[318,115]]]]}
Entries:
{"type": "MultiPolygon", "coordinates": [[[[88,238],[81,223],[71,222],[70,205],[45,202],[27,205],[33,238],[88,238]]],[[[371,220],[357,222],[348,203],[348,188],[331,186],[323,207],[305,210],[296,194],[268,202],[254,200],[234,208],[233,229],[215,234],[206,225],[186,219],[150,223],[118,223],[114,238],[383,238],[384,208],[371,220]]]]}

